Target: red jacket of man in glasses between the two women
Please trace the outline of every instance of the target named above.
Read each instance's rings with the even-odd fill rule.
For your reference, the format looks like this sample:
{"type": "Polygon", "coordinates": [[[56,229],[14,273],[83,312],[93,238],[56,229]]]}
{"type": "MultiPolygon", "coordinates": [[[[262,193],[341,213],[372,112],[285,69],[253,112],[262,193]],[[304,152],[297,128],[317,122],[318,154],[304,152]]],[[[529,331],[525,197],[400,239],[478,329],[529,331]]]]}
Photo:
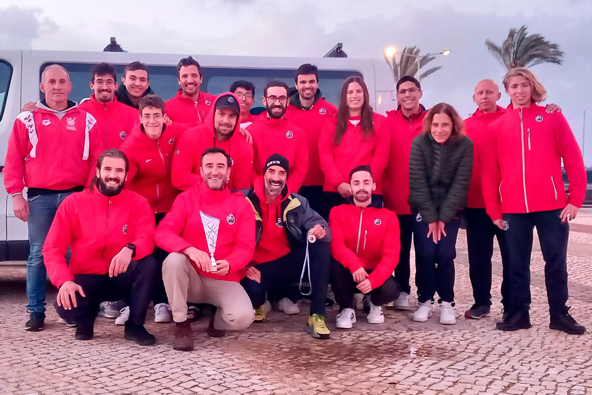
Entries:
{"type": "Polygon", "coordinates": [[[422,134],[423,118],[426,109],[420,105],[420,112],[407,118],[397,110],[387,112],[387,121],[391,126],[391,152],[389,156],[385,182],[384,207],[397,215],[411,214],[407,203],[409,197],[409,156],[413,139],[422,134]]]}

